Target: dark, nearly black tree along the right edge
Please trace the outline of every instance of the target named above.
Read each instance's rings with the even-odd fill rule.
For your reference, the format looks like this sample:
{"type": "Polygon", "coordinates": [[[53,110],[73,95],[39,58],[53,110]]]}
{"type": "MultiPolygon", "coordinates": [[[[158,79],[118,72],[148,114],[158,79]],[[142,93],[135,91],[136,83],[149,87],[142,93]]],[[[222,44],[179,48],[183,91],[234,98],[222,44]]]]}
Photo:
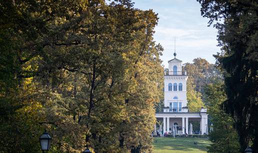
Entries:
{"type": "Polygon", "coordinates": [[[224,70],[225,111],[235,120],[240,151],[248,145],[258,151],[257,1],[197,0],[201,15],[218,29],[217,65],[224,70]]]}

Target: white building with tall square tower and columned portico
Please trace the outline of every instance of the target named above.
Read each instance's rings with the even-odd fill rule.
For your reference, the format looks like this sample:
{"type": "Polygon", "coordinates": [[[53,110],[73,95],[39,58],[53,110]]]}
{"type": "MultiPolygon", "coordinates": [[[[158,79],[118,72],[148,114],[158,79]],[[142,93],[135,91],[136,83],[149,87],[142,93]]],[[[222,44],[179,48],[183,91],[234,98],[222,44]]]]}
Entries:
{"type": "Polygon", "coordinates": [[[200,123],[200,134],[207,133],[206,109],[199,108],[188,110],[186,100],[186,81],[188,76],[182,71],[182,61],[175,58],[168,61],[168,74],[164,75],[164,109],[163,112],[155,114],[157,120],[163,121],[162,128],[154,132],[188,134],[188,126],[191,121],[200,123]],[[162,132],[161,132],[162,131],[162,132]]]}

